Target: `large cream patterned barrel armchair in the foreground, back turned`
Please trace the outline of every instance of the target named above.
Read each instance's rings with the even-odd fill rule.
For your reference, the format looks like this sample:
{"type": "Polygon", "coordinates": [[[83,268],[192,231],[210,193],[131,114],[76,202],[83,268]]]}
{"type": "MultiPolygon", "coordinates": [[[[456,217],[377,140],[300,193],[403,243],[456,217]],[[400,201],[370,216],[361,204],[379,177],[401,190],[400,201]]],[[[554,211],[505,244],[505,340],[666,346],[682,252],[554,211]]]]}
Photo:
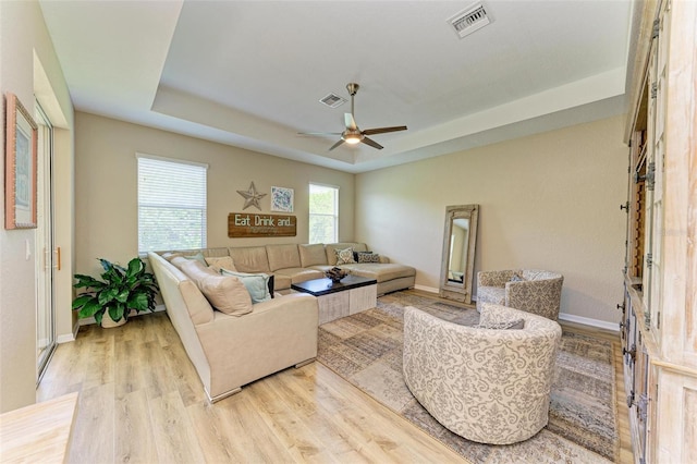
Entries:
{"type": "MultiPolygon", "coordinates": [[[[472,441],[510,444],[547,425],[559,323],[485,304],[481,321],[523,329],[461,326],[404,309],[404,380],[429,414],[472,441]]],[[[481,323],[481,322],[480,322],[481,323]]]]}

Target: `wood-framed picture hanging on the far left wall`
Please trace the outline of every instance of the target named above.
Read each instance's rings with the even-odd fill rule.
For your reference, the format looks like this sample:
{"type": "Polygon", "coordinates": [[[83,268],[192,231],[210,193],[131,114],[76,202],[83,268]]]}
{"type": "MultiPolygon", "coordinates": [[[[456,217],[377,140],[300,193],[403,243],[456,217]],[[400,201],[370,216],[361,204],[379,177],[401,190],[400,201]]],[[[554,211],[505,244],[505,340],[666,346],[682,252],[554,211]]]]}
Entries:
{"type": "Polygon", "coordinates": [[[5,95],[4,228],[36,229],[38,126],[16,95],[5,95]]]}

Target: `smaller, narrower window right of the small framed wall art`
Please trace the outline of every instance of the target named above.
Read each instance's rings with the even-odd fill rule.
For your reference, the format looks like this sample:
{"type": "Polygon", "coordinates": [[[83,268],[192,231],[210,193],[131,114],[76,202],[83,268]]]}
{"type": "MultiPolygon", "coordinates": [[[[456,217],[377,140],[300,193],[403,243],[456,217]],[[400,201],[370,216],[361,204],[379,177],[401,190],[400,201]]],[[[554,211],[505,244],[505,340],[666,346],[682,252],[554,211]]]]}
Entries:
{"type": "Polygon", "coordinates": [[[339,187],[309,184],[309,243],[334,243],[339,234],[339,187]]]}

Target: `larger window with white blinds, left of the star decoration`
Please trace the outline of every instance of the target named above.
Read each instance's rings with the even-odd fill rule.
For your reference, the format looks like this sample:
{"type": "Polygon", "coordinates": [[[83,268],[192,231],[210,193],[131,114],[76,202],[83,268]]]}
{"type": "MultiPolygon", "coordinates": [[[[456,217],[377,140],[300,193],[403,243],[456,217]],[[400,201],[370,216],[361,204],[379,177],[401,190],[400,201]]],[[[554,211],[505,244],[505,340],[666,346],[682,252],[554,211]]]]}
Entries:
{"type": "Polygon", "coordinates": [[[208,164],[136,157],[138,252],[205,248],[208,164]]]}

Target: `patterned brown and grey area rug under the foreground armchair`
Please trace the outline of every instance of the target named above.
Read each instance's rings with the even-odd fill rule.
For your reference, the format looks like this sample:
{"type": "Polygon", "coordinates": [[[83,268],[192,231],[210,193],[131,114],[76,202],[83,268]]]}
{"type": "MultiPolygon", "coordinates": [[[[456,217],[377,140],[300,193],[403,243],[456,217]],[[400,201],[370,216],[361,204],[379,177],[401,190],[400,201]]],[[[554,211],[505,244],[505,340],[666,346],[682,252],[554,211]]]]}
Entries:
{"type": "Polygon", "coordinates": [[[466,440],[433,419],[402,375],[404,306],[472,326],[479,314],[437,300],[398,292],[374,309],[319,328],[317,359],[378,402],[472,463],[603,463],[619,456],[612,344],[564,332],[557,358],[549,424],[521,443],[466,440]]]}

